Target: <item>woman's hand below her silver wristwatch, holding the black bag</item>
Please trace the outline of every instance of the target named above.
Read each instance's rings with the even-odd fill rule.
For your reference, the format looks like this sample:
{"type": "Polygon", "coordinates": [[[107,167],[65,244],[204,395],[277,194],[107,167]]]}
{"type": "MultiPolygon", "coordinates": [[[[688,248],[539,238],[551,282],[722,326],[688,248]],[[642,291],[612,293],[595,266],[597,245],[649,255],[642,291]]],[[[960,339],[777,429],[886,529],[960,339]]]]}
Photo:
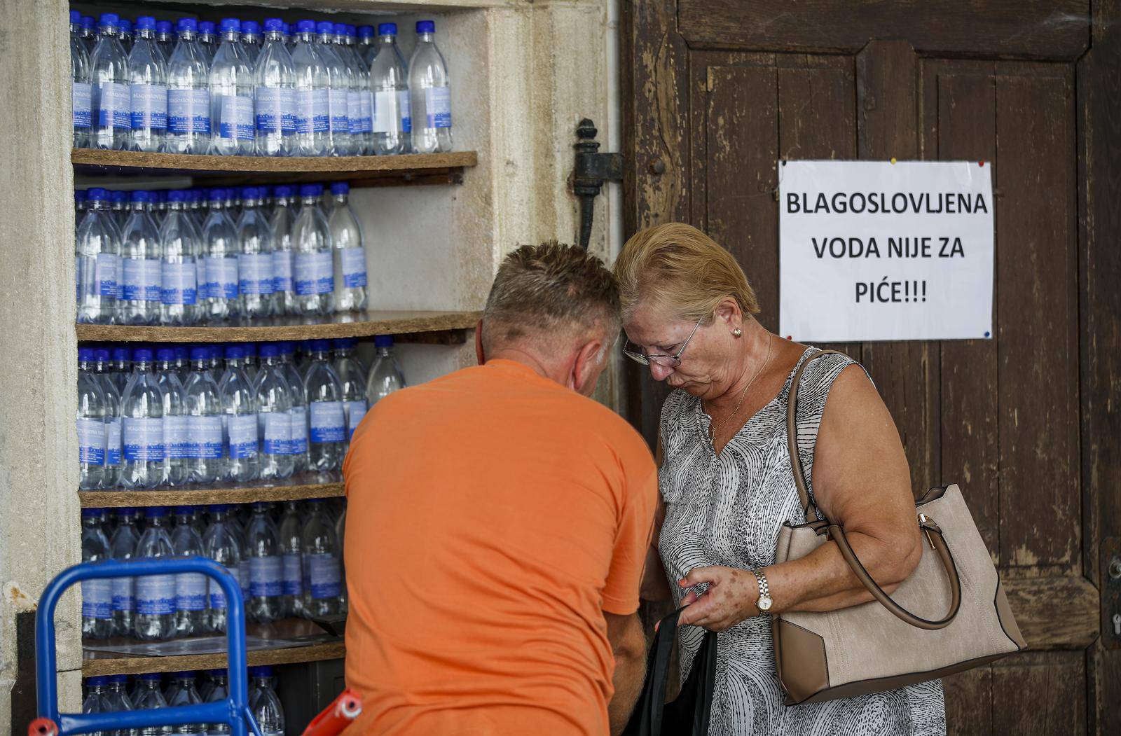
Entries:
{"type": "Polygon", "coordinates": [[[685,611],[678,625],[703,626],[708,631],[726,631],[744,618],[759,615],[759,581],[751,570],[733,567],[695,567],[677,581],[683,588],[707,583],[708,588],[697,596],[691,590],[682,598],[685,611]]]}

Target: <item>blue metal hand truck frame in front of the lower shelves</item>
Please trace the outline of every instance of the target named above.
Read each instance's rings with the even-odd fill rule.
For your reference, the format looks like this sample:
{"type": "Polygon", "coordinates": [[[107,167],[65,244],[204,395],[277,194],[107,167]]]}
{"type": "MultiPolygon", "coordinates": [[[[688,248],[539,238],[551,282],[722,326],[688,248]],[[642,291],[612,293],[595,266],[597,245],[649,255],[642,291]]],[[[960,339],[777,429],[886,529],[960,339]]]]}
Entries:
{"type": "Polygon", "coordinates": [[[261,729],[249,708],[249,684],[245,681],[245,612],[241,586],[230,572],[203,557],[170,559],[105,560],[83,562],[55,576],[39,599],[35,614],[36,699],[38,718],[28,728],[29,736],[71,736],[92,732],[111,732],[150,726],[222,723],[230,726],[231,736],[261,736],[261,729]],[[103,714],[64,714],[58,711],[58,681],[55,659],[55,607],[63,591],[98,578],[139,577],[141,575],[175,575],[202,572],[217,580],[225,595],[226,650],[229,658],[229,692],[225,700],[194,706],[175,706],[154,710],[126,710],[103,714]],[[248,724],[248,728],[247,728],[248,724]]]}

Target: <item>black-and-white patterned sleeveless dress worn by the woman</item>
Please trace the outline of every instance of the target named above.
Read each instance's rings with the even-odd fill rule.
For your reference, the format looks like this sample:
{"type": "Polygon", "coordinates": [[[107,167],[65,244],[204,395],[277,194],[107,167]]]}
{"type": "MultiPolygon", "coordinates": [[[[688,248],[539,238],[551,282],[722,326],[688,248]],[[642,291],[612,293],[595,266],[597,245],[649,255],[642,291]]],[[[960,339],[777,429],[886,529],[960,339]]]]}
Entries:
{"type": "MultiPolygon", "coordinates": [[[[798,365],[817,351],[807,348],[798,365]]],[[[830,386],[852,363],[842,355],[827,355],[803,373],[798,447],[807,476],[830,386]]],[[[666,399],[661,409],[664,460],[658,474],[666,520],[658,549],[677,605],[685,591],[676,580],[688,570],[713,565],[750,570],[772,565],[782,523],[806,520],[786,444],[786,403],[793,379],[794,371],[779,394],[748,420],[720,457],[708,440],[710,419],[701,401],[680,390],[666,399]]],[[[704,631],[696,626],[678,631],[684,680],[704,631]]],[[[946,733],[939,680],[787,707],[775,672],[767,616],[740,622],[722,632],[719,642],[710,736],[946,733]]]]}

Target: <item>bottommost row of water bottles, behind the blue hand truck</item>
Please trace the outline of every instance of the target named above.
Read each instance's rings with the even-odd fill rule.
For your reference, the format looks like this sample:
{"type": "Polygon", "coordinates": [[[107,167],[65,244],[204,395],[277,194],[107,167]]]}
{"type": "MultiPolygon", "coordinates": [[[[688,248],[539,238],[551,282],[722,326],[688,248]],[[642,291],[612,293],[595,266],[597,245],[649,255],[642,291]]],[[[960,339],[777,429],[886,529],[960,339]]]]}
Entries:
{"type": "MultiPolygon", "coordinates": [[[[174,706],[193,706],[202,702],[220,702],[229,699],[229,678],[226,670],[209,670],[205,678],[201,672],[159,672],[138,674],[133,677],[129,688],[129,676],[113,674],[109,677],[92,677],[85,679],[85,698],[82,700],[82,712],[120,712],[122,710],[155,710],[174,706]],[[161,687],[161,680],[167,678],[167,688],[161,687]],[[196,682],[202,680],[197,688],[196,682]]],[[[265,736],[284,736],[284,707],[276,693],[277,678],[271,667],[249,668],[249,707],[253,718],[265,736]]],[[[111,734],[136,734],[137,732],[110,732],[111,734]]],[[[170,734],[170,726],[155,727],[139,732],[142,736],[161,736],[170,734]]],[[[205,734],[229,734],[225,724],[189,724],[176,726],[176,734],[204,736],[205,734]]]]}

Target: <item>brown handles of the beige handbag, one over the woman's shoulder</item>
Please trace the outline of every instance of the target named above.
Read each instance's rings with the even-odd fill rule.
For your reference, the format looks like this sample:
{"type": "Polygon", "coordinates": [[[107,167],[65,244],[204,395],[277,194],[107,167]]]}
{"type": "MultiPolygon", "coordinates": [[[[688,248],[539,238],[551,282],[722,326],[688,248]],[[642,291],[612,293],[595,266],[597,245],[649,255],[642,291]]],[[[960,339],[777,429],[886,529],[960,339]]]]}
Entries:
{"type": "MultiPolygon", "coordinates": [[[[806,512],[807,521],[818,521],[819,519],[824,519],[824,516],[821,515],[817,504],[809,499],[809,490],[806,484],[806,467],[802,463],[802,451],[798,448],[798,426],[795,421],[795,413],[798,406],[798,383],[802,380],[803,371],[806,370],[810,361],[830,354],[845,355],[841,351],[821,351],[816,355],[803,361],[798,370],[795,371],[794,379],[790,381],[790,392],[786,402],[786,441],[790,453],[790,469],[794,472],[794,484],[798,488],[798,499],[802,501],[802,507],[806,512]]],[[[845,357],[849,356],[845,355],[845,357]]],[[[852,569],[853,575],[856,576],[861,585],[872,594],[872,597],[880,602],[880,605],[895,614],[897,618],[911,626],[930,631],[945,628],[957,616],[957,611],[961,608],[962,581],[957,575],[954,556],[949,552],[949,546],[946,544],[946,539],[938,524],[925,514],[919,514],[919,528],[926,534],[927,541],[930,542],[930,548],[938,552],[942,565],[946,569],[946,577],[949,578],[949,611],[945,616],[935,621],[916,616],[892,600],[891,596],[884,593],[883,588],[872,579],[872,576],[868,574],[868,569],[860,561],[860,558],[856,557],[852,546],[849,543],[847,537],[845,537],[844,528],[841,524],[832,522],[827,527],[830,538],[836,542],[837,549],[841,550],[841,557],[844,558],[844,561],[852,569]]]]}

